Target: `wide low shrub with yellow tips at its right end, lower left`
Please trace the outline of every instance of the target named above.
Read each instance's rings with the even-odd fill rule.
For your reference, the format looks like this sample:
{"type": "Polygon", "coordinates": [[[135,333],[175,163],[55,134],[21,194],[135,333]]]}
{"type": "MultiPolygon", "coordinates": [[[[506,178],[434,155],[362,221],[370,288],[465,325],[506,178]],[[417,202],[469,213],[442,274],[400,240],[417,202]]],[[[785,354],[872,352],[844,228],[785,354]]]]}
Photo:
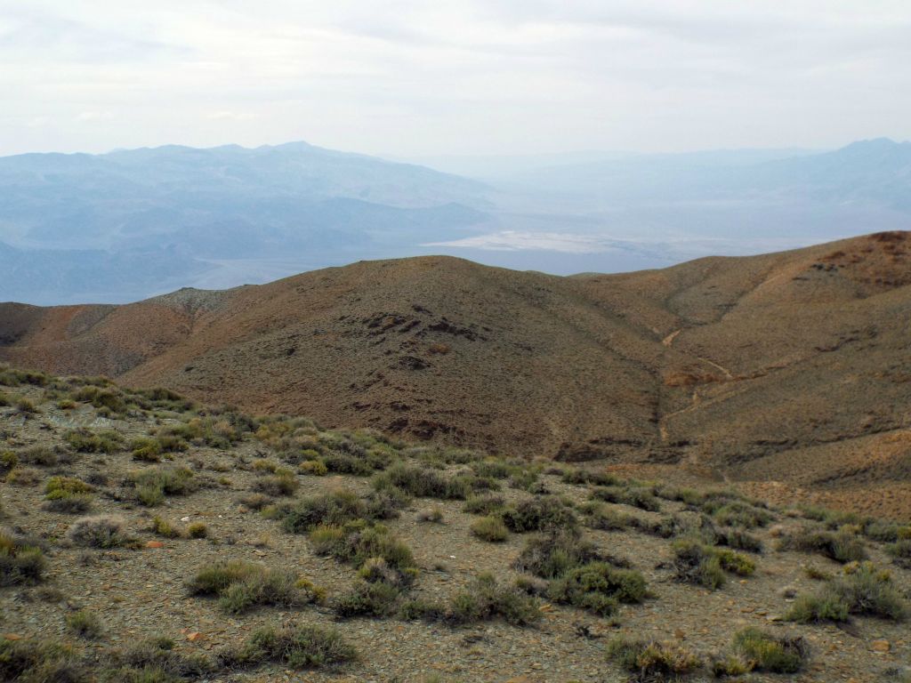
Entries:
{"type": "Polygon", "coordinates": [[[322,589],[285,569],[241,560],[207,566],[187,584],[195,596],[216,596],[219,607],[241,614],[251,607],[300,607],[322,600],[322,589]]]}

